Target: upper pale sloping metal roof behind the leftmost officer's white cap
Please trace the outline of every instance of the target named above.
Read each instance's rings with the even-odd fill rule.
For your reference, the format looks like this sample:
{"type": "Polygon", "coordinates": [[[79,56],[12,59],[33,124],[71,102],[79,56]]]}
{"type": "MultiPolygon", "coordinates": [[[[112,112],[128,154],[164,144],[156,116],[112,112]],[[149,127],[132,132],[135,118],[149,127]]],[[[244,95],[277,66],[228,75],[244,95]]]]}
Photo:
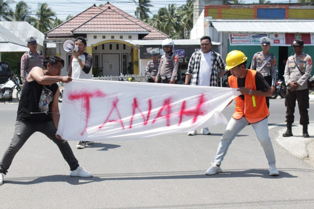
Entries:
{"type": "Polygon", "coordinates": [[[31,36],[37,37],[37,43],[41,46],[44,45],[45,35],[39,30],[35,29],[32,25],[25,21],[0,21],[0,24],[8,31],[13,33],[16,37],[26,44],[26,39],[31,36]]]}

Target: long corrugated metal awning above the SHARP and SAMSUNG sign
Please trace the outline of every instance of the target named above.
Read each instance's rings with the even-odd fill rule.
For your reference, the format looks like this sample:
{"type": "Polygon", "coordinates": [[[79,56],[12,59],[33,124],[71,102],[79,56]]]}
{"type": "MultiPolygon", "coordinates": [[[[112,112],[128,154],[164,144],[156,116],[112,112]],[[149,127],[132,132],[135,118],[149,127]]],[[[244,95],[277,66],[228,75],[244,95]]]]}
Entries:
{"type": "Polygon", "coordinates": [[[218,32],[314,33],[314,20],[208,20],[218,32]]]}

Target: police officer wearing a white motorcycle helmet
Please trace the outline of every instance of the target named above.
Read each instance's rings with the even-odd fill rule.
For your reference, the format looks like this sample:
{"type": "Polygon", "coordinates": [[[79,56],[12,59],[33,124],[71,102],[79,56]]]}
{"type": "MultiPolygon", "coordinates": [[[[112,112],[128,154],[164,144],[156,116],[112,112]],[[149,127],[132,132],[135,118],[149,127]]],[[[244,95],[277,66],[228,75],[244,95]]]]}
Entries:
{"type": "Polygon", "coordinates": [[[175,44],[172,39],[165,39],[162,41],[162,48],[165,51],[165,54],[160,58],[160,65],[155,78],[155,83],[158,83],[160,78],[162,83],[176,83],[179,59],[178,55],[172,52],[174,46],[175,44]]]}

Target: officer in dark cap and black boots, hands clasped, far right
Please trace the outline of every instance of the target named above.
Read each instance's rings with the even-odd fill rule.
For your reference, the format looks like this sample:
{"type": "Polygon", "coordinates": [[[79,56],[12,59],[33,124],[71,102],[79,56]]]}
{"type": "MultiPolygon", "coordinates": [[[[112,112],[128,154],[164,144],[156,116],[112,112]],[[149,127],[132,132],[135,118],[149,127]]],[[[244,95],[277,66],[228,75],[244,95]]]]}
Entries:
{"type": "Polygon", "coordinates": [[[298,101],[300,112],[300,124],[303,126],[302,137],[308,138],[307,125],[309,124],[309,90],[308,79],[312,72],[312,59],[310,55],[303,53],[304,41],[294,39],[291,45],[294,55],[288,57],[284,70],[284,81],[287,85],[287,95],[285,99],[287,131],[283,137],[293,136],[292,123],[294,122],[295,101],[298,101]]]}

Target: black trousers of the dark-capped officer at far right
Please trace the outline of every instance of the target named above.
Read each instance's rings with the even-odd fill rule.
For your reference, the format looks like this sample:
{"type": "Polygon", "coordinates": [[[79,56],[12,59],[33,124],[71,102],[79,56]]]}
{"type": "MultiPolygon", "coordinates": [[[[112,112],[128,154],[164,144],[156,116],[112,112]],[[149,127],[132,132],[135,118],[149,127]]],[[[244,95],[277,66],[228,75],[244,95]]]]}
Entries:
{"type": "Polygon", "coordinates": [[[309,114],[308,108],[309,105],[309,89],[290,91],[287,89],[286,99],[284,101],[285,106],[287,107],[286,111],[286,122],[294,122],[294,112],[295,112],[295,101],[298,101],[298,107],[300,112],[300,124],[308,125],[309,124],[309,114]]]}

